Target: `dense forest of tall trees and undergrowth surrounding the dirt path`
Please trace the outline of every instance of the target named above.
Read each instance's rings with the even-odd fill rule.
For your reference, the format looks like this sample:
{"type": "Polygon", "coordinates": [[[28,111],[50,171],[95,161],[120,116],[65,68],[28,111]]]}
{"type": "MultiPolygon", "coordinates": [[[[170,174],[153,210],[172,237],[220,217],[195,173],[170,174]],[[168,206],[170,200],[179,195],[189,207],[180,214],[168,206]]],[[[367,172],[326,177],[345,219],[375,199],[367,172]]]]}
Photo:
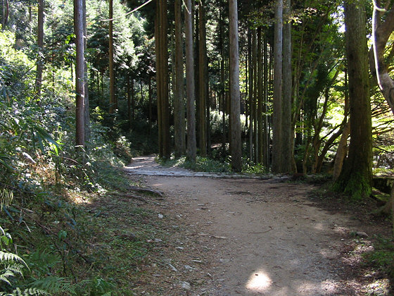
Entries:
{"type": "MultiPolygon", "coordinates": [[[[70,267],[91,264],[76,239],[87,233],[75,200],[127,190],[120,168],[132,156],[195,170],[319,175],[354,203],[370,198],[378,176],[390,180],[392,1],[0,7],[1,295],[122,287],[70,267]]],[[[387,194],[383,215],[394,211],[387,194]]]]}

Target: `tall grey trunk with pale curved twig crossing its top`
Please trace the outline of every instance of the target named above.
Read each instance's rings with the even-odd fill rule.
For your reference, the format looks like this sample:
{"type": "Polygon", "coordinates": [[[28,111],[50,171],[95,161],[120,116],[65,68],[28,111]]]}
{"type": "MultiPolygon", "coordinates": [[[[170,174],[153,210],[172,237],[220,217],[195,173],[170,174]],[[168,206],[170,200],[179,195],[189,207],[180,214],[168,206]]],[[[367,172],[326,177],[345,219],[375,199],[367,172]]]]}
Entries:
{"type": "Polygon", "coordinates": [[[187,97],[187,158],[196,161],[196,105],[194,101],[193,11],[191,0],[186,0],[186,97],[187,97]]]}

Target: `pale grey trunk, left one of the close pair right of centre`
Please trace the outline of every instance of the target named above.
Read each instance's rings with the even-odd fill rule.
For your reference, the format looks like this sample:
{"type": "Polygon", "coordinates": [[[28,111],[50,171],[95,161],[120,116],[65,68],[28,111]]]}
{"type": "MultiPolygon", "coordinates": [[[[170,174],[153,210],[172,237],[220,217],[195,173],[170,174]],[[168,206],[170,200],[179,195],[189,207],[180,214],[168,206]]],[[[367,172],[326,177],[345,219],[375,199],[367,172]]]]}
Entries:
{"type": "Polygon", "coordinates": [[[283,0],[275,4],[274,25],[274,98],[272,123],[272,172],[281,172],[282,152],[282,49],[283,49],[283,0]]]}

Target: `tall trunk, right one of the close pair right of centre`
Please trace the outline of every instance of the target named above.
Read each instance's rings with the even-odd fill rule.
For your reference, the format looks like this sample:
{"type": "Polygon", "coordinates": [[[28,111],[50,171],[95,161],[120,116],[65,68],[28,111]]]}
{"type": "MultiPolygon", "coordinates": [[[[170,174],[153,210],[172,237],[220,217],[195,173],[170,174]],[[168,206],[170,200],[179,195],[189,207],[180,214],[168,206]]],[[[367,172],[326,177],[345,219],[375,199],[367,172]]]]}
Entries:
{"type": "Polygon", "coordinates": [[[281,173],[293,172],[293,136],[291,135],[291,0],[284,1],[283,31],[283,101],[282,101],[282,154],[281,173]]]}

